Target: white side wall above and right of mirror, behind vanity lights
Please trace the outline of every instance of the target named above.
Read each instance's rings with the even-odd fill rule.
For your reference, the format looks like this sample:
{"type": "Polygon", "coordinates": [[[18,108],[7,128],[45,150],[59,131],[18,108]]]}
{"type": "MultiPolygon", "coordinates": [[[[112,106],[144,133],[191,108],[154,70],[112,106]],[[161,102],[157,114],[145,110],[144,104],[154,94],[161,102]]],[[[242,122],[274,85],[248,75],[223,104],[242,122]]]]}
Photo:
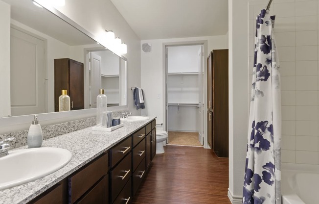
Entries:
{"type": "Polygon", "coordinates": [[[113,30],[115,36],[127,44],[127,100],[130,112],[139,115],[133,101],[131,86],[140,87],[140,39],[127,24],[110,0],[66,0],[66,5],[57,8],[75,23],[84,27],[94,36],[103,38],[105,29],[113,30]]]}

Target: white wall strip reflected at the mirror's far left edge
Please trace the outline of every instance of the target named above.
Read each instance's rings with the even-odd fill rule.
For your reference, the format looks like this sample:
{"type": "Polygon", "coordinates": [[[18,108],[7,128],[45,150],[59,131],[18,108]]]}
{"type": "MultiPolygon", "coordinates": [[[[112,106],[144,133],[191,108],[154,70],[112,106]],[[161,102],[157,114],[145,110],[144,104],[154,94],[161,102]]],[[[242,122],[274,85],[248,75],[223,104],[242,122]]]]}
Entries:
{"type": "Polygon", "coordinates": [[[10,5],[0,0],[0,117],[11,114],[10,107],[10,5]],[[9,76],[9,77],[8,77],[9,76]]]}

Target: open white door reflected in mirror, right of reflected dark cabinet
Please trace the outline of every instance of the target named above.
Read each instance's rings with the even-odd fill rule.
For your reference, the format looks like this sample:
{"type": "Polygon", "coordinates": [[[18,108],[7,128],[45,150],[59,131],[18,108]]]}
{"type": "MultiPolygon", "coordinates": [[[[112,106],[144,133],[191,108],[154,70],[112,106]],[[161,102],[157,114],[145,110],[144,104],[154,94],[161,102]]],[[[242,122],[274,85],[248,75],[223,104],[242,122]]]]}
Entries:
{"type": "Polygon", "coordinates": [[[101,56],[90,52],[90,108],[96,108],[96,97],[101,88],[101,56]]]}

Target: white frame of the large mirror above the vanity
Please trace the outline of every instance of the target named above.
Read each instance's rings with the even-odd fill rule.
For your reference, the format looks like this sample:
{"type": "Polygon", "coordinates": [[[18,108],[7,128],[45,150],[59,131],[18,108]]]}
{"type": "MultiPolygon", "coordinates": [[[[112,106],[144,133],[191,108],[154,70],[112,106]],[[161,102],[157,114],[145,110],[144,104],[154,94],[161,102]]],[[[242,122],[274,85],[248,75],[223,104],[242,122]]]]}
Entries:
{"type": "MultiPolygon", "coordinates": [[[[37,0],[35,0],[37,1],[37,0]]],[[[39,4],[41,4],[39,2],[39,4]]],[[[70,26],[73,26],[80,32],[84,33],[88,37],[90,37],[95,42],[97,41],[97,38],[91,34],[89,31],[69,19],[66,15],[61,13],[59,10],[55,9],[52,6],[48,5],[42,5],[44,9],[48,10],[49,12],[53,13],[55,16],[63,20],[64,22],[68,23],[70,26]]],[[[100,44],[103,46],[102,44],[100,44]]],[[[105,46],[103,46],[105,47],[105,46]]],[[[108,49],[107,47],[105,47],[108,49]]],[[[110,50],[110,49],[108,49],[110,50]]],[[[110,50],[112,51],[112,50],[110,50]]],[[[123,55],[119,55],[116,52],[112,51],[114,54],[122,58],[126,61],[126,100],[127,100],[127,66],[128,61],[127,58],[123,55]]],[[[112,111],[127,111],[128,110],[128,100],[126,102],[126,105],[120,105],[120,106],[112,106],[108,107],[108,110],[112,111]]],[[[7,134],[11,132],[16,131],[22,131],[27,130],[33,120],[33,115],[23,115],[23,116],[12,116],[12,117],[3,117],[0,118],[0,135],[1,134],[7,134]]],[[[41,126],[48,126],[48,125],[54,125],[59,123],[65,123],[69,121],[84,119],[84,118],[90,118],[96,116],[96,108],[89,108],[89,109],[83,109],[83,110],[72,110],[72,111],[66,111],[66,112],[51,112],[51,113],[41,113],[37,114],[39,119],[39,124],[41,126]]]]}

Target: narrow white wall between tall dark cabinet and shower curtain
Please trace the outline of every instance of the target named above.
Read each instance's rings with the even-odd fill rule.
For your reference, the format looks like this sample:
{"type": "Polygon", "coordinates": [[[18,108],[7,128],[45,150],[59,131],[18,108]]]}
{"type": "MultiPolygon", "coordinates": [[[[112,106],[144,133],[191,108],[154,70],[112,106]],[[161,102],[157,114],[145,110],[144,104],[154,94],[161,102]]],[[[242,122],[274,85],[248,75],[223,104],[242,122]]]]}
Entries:
{"type": "Polygon", "coordinates": [[[229,188],[242,204],[248,137],[248,0],[228,0],[229,188]]]}

